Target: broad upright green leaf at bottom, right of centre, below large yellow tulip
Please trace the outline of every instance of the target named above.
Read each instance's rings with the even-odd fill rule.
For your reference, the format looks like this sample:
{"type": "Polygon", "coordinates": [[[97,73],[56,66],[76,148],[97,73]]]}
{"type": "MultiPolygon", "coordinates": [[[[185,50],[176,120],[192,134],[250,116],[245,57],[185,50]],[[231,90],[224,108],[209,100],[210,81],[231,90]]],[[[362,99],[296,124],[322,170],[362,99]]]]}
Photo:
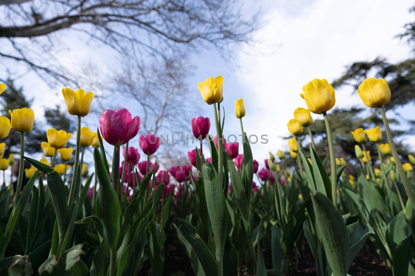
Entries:
{"type": "Polygon", "coordinates": [[[347,275],[349,260],[349,238],[342,215],[330,199],[317,192],[311,194],[315,211],[317,235],[326,253],[327,262],[336,276],[347,275]]]}

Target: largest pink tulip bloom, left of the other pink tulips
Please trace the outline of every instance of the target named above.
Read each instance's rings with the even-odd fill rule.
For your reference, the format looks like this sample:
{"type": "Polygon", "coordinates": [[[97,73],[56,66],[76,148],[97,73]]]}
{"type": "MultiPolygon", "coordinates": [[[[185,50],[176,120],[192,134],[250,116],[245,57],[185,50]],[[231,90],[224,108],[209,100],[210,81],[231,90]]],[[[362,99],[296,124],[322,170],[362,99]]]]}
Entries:
{"type": "Polygon", "coordinates": [[[127,143],[140,129],[140,118],[138,116],[132,118],[131,113],[125,108],[117,111],[107,109],[98,121],[105,141],[113,146],[127,143]]]}

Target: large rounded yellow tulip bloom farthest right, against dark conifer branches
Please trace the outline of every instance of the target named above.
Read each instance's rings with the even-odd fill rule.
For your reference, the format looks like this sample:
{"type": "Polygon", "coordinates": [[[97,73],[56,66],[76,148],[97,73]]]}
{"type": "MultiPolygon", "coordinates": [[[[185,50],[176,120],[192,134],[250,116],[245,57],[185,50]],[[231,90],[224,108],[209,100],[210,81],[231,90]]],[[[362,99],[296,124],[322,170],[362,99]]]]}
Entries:
{"type": "Polygon", "coordinates": [[[367,78],[357,89],[363,103],[375,108],[384,106],[391,99],[391,90],[384,79],[367,78]]]}

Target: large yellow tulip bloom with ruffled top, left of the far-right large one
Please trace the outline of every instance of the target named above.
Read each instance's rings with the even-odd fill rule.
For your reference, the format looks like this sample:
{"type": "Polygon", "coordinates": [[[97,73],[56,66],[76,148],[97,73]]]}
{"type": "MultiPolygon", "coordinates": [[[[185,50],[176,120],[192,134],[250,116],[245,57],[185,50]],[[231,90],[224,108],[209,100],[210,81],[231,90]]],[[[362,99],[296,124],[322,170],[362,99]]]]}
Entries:
{"type": "Polygon", "coordinates": [[[322,114],[332,109],[336,103],[333,86],[326,79],[313,79],[303,86],[303,92],[300,96],[312,113],[322,114]]]}

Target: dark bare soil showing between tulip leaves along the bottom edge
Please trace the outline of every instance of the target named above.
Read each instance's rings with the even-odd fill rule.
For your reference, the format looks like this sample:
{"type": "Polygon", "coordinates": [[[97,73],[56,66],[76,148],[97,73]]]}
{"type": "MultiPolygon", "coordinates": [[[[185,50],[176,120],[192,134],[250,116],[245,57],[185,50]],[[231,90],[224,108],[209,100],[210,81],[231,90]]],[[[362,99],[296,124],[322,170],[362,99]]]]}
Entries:
{"type": "MultiPolygon", "coordinates": [[[[264,252],[266,255],[267,252],[264,252]]],[[[149,269],[149,262],[144,263],[143,269],[140,271],[139,276],[147,276],[147,270],[149,269]]],[[[268,267],[267,267],[268,268],[268,267]]],[[[252,272],[246,271],[246,268],[242,267],[243,275],[254,275],[252,272]]],[[[376,253],[374,245],[368,241],[365,247],[357,255],[356,259],[352,263],[349,269],[349,274],[353,276],[391,276],[392,271],[388,269],[379,255],[376,253]]],[[[166,259],[164,261],[164,275],[166,276],[190,276],[194,275],[193,269],[190,265],[186,253],[183,251],[180,242],[172,240],[166,247],[166,259]]],[[[236,272],[235,274],[236,275],[236,272]]],[[[312,257],[310,248],[305,246],[305,251],[301,257],[293,259],[290,264],[290,269],[287,275],[295,276],[313,276],[315,273],[314,259],[312,257]]]]}

